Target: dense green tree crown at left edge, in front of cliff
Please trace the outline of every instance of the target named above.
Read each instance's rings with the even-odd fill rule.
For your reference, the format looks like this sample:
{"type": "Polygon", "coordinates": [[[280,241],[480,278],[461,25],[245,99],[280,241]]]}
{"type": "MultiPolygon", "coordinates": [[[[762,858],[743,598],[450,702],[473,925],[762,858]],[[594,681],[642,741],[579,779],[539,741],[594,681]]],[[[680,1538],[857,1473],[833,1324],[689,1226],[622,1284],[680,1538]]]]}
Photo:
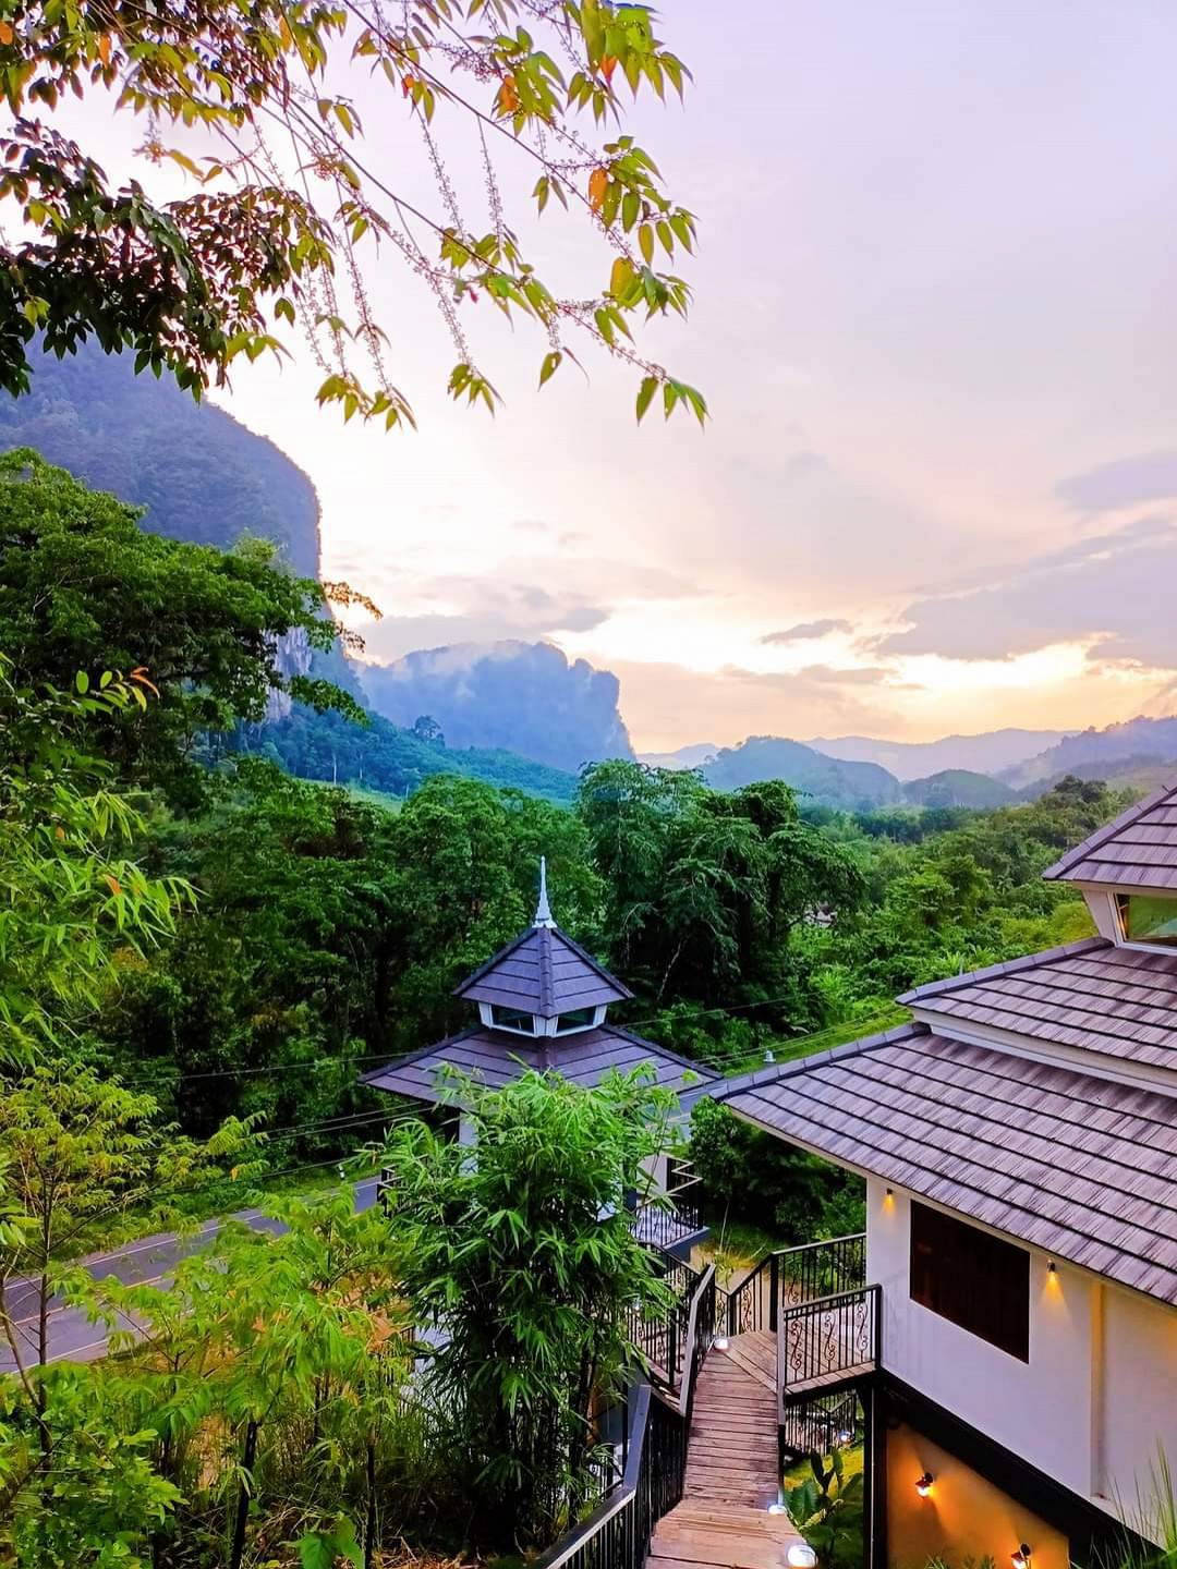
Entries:
{"type": "Polygon", "coordinates": [[[292,634],[326,650],[337,629],[323,587],[279,571],[267,541],[221,552],[165,540],[35,452],[0,457],[0,648],[58,686],[77,670],[148,672],[163,695],[111,731],[140,780],[191,783],[195,734],[262,719],[271,692],[355,712],[334,687],[281,672],[292,634]]]}

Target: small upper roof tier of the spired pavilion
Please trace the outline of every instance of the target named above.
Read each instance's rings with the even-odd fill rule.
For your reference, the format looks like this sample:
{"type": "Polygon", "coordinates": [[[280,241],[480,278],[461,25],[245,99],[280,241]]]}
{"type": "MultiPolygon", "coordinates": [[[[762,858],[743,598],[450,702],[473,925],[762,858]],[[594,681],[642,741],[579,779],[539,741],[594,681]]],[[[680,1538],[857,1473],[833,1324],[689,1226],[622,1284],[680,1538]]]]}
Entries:
{"type": "Polygon", "coordinates": [[[529,926],[454,993],[556,1018],[581,1007],[621,1003],[634,993],[554,926],[529,926]]]}

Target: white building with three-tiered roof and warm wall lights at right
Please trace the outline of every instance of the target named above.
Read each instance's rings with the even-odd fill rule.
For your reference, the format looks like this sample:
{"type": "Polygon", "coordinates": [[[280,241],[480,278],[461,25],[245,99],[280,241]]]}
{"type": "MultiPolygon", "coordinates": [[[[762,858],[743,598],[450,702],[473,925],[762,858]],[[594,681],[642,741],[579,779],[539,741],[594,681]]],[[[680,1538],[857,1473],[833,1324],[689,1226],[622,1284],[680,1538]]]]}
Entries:
{"type": "Polygon", "coordinates": [[[782,1412],[860,1389],[874,1564],[1091,1563],[1177,1472],[1177,789],[1047,877],[1099,937],[716,1092],[866,1178],[863,1290],[782,1309],[782,1412]]]}

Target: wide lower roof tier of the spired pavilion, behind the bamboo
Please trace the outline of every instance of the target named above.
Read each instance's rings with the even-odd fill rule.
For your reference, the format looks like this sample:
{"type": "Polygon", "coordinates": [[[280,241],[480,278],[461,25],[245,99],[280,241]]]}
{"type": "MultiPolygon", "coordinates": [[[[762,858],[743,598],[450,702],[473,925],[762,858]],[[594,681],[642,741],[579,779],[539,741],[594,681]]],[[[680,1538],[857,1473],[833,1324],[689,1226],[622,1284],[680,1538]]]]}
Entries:
{"type": "Polygon", "coordinates": [[[436,1103],[444,1089],[441,1072],[447,1065],[476,1076],[488,1089],[501,1089],[527,1068],[538,1067],[554,1068],[573,1084],[592,1089],[610,1068],[626,1073],[643,1062],[654,1068],[664,1089],[683,1089],[692,1073],[705,1081],[716,1079],[716,1073],[698,1062],[689,1062],[626,1029],[601,1025],[574,1036],[549,1036],[543,1042],[476,1026],[366,1073],[363,1083],[436,1103]]]}

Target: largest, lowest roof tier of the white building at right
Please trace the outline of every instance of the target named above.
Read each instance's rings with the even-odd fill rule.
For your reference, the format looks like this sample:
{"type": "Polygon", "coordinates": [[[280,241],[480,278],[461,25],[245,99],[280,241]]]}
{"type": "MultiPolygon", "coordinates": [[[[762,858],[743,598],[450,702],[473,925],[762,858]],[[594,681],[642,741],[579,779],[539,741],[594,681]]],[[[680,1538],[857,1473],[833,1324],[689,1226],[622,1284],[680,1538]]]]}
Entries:
{"type": "Polygon", "coordinates": [[[719,1100],[1058,1258],[1177,1304],[1177,1100],[893,1032],[719,1100]]]}

